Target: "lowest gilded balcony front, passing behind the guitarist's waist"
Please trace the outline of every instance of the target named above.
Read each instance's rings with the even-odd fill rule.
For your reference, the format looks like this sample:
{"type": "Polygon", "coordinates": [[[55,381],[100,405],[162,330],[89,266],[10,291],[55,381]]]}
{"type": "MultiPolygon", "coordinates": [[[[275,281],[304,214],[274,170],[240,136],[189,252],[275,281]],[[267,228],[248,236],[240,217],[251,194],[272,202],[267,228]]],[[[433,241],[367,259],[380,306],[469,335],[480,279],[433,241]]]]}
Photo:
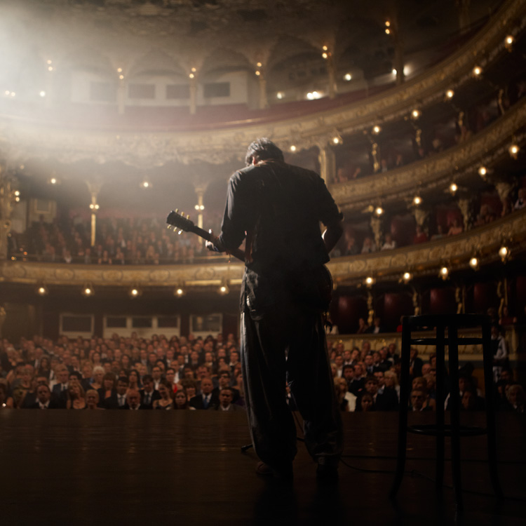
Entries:
{"type": "MultiPolygon", "coordinates": [[[[404,271],[438,274],[438,267],[449,264],[454,269],[467,267],[468,259],[478,253],[483,260],[498,259],[498,250],[506,239],[513,239],[510,246],[522,248],[526,244],[526,209],[518,210],[497,221],[464,232],[420,245],[410,245],[394,250],[384,250],[369,255],[339,257],[328,263],[336,285],[355,284],[365,276],[376,280],[398,279],[404,271]]],[[[175,287],[191,285],[204,288],[226,280],[232,286],[241,284],[243,264],[215,263],[195,265],[161,265],[100,267],[97,265],[5,262],[0,265],[0,283],[27,283],[37,285],[75,285],[91,283],[97,286],[142,288],[175,287]]]]}

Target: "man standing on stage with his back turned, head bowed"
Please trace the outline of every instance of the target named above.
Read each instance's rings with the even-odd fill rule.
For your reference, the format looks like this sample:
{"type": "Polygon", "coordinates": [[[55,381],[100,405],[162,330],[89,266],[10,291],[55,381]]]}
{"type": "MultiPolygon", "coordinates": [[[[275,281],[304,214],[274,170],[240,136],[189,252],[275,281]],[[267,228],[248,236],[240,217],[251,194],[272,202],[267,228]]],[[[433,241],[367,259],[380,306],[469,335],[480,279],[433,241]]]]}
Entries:
{"type": "Polygon", "coordinates": [[[292,479],[297,447],[288,382],[317,477],[335,480],[342,423],[322,319],[332,285],[323,265],[342,235],[342,214],[323,179],[286,164],[270,140],[252,142],[245,162],[230,178],[221,234],[207,247],[234,250],[246,236],[241,364],[252,443],[261,459],[256,471],[292,479]]]}

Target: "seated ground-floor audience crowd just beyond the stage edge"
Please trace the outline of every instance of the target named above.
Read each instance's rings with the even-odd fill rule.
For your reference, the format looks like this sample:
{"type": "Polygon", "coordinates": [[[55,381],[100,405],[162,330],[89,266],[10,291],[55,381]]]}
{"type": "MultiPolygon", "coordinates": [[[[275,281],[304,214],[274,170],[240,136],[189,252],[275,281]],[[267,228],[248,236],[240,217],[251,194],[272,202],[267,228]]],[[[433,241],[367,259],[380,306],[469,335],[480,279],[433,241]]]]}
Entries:
{"type": "MultiPolygon", "coordinates": [[[[379,327],[379,321],[374,327],[379,327]]],[[[499,360],[503,342],[499,325],[494,325],[492,332],[499,360]]],[[[340,340],[330,342],[329,354],[340,410],[398,410],[400,359],[396,344],[373,350],[366,338],[360,351],[345,349],[340,340]]],[[[436,399],[436,356],[420,358],[417,349],[411,349],[410,359],[410,410],[433,411],[437,403],[447,408],[449,393],[441,402],[436,399]]],[[[142,338],[134,333],[106,339],[61,336],[57,342],[35,336],[22,338],[17,345],[3,339],[0,363],[0,408],[239,411],[245,405],[233,335],[168,339],[164,335],[142,338]],[[94,363],[100,365],[93,367],[94,363]]],[[[497,410],[524,412],[522,386],[513,382],[505,360],[495,367],[499,376],[495,376],[491,393],[486,388],[486,396],[493,397],[497,410]]],[[[461,367],[459,394],[461,408],[466,411],[485,407],[473,372],[470,363],[461,367]]],[[[287,392],[286,401],[296,410],[290,389],[287,392]]]]}

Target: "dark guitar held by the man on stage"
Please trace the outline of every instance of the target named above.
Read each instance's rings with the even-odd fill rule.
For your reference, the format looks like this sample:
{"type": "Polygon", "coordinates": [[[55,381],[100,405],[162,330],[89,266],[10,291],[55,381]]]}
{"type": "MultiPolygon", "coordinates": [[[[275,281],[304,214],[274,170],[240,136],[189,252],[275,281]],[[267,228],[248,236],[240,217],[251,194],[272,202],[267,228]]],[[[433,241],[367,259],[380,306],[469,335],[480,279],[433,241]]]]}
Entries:
{"type": "MultiPolygon", "coordinates": [[[[194,222],[189,220],[189,217],[184,217],[183,213],[172,210],[168,217],[166,217],[168,228],[173,227],[174,231],[179,229],[178,234],[182,232],[194,232],[206,241],[214,243],[217,238],[199,227],[196,227],[194,222]]],[[[231,255],[245,262],[245,252],[236,248],[229,252],[231,255]]],[[[299,276],[290,276],[290,283],[295,290],[295,295],[301,299],[304,304],[311,306],[311,308],[321,311],[328,311],[332,299],[332,276],[325,265],[313,269],[305,269],[299,276]],[[298,280],[298,281],[297,281],[298,280]]]]}

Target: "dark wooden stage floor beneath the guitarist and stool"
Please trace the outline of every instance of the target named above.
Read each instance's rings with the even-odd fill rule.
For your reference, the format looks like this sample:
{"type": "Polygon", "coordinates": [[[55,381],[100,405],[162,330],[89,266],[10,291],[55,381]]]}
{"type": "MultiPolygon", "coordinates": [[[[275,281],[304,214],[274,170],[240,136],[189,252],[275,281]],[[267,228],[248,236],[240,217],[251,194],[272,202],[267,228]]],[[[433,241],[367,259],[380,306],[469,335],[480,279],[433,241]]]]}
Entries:
{"type": "MultiPolygon", "coordinates": [[[[6,526],[454,524],[452,490],[437,494],[430,480],[434,438],[409,436],[408,473],[396,504],[389,500],[397,417],[344,414],[343,460],[350,467],[340,466],[339,483],[316,483],[316,466],[300,443],[288,487],[255,474],[252,450],[241,454],[249,442],[244,414],[1,410],[0,520],[6,526]]],[[[499,502],[492,494],[485,437],[464,438],[459,524],[526,524],[526,415],[499,414],[498,428],[507,498],[499,502]]],[[[450,480],[446,462],[445,484],[450,480]]]]}

